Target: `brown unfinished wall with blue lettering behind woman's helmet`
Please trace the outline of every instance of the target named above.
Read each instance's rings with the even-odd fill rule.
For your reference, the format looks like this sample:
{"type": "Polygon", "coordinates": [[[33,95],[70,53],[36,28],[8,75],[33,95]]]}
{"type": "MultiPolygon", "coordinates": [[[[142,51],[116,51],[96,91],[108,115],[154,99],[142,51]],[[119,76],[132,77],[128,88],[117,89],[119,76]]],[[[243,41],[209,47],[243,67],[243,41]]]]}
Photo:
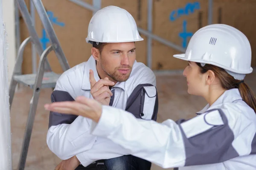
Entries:
{"type": "MultiPolygon", "coordinates": [[[[212,23],[223,23],[242,31],[252,47],[252,65],[256,66],[256,1],[213,0],[212,23]]],[[[186,48],[192,34],[208,25],[208,0],[155,0],[153,32],[186,48]],[[183,35],[182,35],[183,34],[183,35]]],[[[153,69],[183,69],[185,61],[172,57],[180,51],[153,41],[153,69]]]]}

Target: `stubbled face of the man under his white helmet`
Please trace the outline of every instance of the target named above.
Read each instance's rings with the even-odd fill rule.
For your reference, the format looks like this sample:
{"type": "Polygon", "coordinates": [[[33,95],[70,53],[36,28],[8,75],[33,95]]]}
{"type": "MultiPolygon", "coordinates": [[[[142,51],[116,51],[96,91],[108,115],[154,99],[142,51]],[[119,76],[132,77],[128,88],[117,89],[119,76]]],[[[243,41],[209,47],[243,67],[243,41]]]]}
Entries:
{"type": "Polygon", "coordinates": [[[134,42],[107,43],[100,54],[103,71],[116,82],[126,81],[136,59],[134,42]]]}

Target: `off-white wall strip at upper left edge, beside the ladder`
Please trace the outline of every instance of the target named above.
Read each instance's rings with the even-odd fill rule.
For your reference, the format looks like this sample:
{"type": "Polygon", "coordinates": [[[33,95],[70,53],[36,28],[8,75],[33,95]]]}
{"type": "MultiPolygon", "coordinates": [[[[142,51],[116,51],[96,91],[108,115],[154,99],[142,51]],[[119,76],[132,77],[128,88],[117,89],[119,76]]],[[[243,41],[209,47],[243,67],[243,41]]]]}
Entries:
{"type": "Polygon", "coordinates": [[[14,0],[2,0],[3,3],[3,23],[6,25],[8,50],[6,58],[8,61],[8,82],[12,78],[12,72],[16,59],[16,46],[15,46],[15,4],[14,0]]]}

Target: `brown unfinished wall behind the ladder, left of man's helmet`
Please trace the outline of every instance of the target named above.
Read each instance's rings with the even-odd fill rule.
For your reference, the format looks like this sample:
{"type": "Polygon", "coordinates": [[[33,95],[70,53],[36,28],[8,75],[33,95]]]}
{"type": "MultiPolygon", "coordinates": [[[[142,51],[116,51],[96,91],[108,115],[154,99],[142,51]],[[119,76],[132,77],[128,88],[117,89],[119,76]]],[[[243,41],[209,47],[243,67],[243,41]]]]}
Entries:
{"type": "MultiPolygon", "coordinates": [[[[92,0],[86,0],[85,2],[91,3],[92,0]]],[[[92,12],[68,0],[42,0],[42,3],[48,12],[52,26],[70,66],[86,61],[91,53],[90,45],[85,42],[85,38],[92,12]]],[[[26,0],[26,4],[30,8],[29,0],[26,0]]],[[[45,49],[46,46],[49,46],[49,40],[37,12],[35,12],[35,28],[45,49]]],[[[20,29],[22,32],[21,40],[24,40],[29,34],[23,19],[20,20],[20,29]]],[[[23,74],[32,73],[30,44],[25,48],[23,56],[23,74]]],[[[51,52],[47,59],[53,71],[56,73],[63,72],[54,52],[51,52]]]]}

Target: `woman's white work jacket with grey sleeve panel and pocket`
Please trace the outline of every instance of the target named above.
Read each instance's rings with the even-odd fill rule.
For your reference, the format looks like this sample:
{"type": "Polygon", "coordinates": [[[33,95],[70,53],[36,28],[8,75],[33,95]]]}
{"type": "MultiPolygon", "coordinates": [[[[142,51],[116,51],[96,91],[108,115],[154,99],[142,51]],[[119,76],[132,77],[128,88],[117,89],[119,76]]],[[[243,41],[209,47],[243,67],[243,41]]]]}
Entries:
{"type": "Polygon", "coordinates": [[[103,106],[91,133],[163,168],[256,170],[256,114],[238,89],[225,91],[198,114],[160,124],[103,106]]]}

